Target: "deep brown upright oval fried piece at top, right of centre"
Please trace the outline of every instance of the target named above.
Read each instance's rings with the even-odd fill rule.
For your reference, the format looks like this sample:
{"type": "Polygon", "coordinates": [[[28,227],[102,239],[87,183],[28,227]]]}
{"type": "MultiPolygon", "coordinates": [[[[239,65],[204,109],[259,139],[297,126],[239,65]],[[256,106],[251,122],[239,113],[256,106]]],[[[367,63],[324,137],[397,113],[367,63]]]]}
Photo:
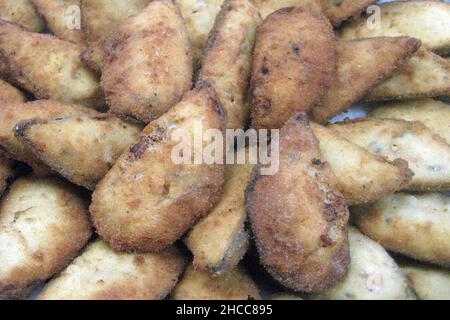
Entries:
{"type": "Polygon", "coordinates": [[[271,14],[258,31],[252,75],[252,126],[276,129],[308,112],[330,87],[334,34],[328,20],[302,8],[271,14]]]}

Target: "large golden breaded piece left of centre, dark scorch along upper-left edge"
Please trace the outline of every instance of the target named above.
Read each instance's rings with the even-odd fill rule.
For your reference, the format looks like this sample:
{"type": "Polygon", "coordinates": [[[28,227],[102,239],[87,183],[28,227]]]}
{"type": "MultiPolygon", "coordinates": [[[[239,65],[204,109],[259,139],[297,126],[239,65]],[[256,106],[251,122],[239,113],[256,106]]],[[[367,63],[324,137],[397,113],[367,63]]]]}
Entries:
{"type": "Polygon", "coordinates": [[[190,148],[189,155],[181,150],[183,161],[174,161],[180,145],[175,140],[224,126],[219,99],[206,83],[151,122],[92,196],[92,218],[102,238],[116,250],[141,252],[159,251],[180,239],[219,201],[224,166],[186,164],[192,160],[190,148]]]}

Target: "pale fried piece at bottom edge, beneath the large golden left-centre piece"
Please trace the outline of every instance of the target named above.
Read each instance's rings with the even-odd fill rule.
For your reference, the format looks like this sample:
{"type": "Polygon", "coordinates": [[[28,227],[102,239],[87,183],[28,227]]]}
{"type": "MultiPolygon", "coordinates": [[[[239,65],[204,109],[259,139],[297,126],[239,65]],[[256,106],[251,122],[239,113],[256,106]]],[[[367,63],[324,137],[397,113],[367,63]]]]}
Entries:
{"type": "Polygon", "coordinates": [[[90,244],[38,295],[39,300],[161,300],[178,282],[186,259],[175,247],[160,253],[118,253],[90,244]]]}

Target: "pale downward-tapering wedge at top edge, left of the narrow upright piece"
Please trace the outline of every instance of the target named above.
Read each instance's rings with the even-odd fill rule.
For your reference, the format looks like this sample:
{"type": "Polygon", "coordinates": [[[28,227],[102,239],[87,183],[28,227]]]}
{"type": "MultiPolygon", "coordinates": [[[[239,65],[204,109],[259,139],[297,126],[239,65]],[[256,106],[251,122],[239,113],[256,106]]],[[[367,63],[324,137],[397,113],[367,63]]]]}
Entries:
{"type": "Polygon", "coordinates": [[[200,66],[208,35],[224,0],[175,0],[186,23],[194,66],[200,66]]]}

